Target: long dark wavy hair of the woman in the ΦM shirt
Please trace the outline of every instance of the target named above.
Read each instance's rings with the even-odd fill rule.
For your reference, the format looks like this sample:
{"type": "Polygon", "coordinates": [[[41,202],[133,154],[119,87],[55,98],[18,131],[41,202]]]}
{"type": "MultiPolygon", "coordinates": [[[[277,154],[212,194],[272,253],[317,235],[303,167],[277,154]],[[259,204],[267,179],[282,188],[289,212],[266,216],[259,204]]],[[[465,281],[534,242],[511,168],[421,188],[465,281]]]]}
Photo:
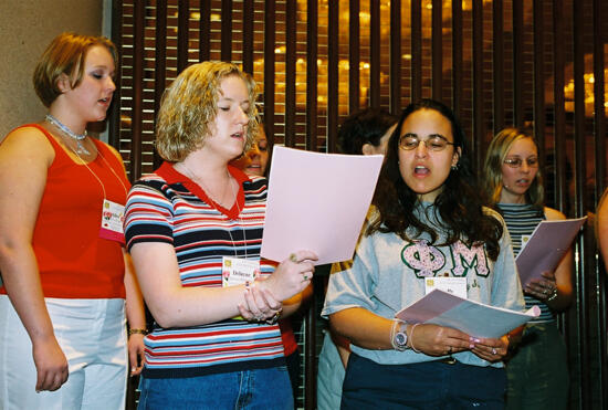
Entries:
{"type": "Polygon", "coordinates": [[[481,190],[472,172],[464,133],[459,122],[450,108],[433,99],[412,103],[401,113],[397,128],[388,141],[386,160],[374,196],[379,217],[370,224],[366,234],[394,232],[405,241],[411,241],[427,232],[431,236],[431,243],[439,239],[436,228],[424,224],[416,217],[413,210],[419,204],[419,196],[406,185],[399,171],[401,127],[410,114],[420,109],[433,109],[445,117],[452,125],[453,149],[460,148],[458,165],[450,170],[442,191],[434,200],[436,212],[441,221],[440,228],[445,234],[445,243],[441,245],[451,245],[459,240],[468,246],[484,244],[489,256],[495,261],[500,253],[502,223],[482,209],[481,190]],[[412,238],[408,235],[408,229],[412,229],[412,238]]]}

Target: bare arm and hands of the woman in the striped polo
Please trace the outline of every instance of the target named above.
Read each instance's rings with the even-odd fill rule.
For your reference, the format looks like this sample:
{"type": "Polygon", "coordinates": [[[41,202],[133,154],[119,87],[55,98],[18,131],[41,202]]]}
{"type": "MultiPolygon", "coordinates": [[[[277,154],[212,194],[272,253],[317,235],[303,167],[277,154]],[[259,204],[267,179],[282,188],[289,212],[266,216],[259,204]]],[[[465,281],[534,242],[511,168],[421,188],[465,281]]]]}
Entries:
{"type": "MultiPolygon", "coordinates": [[[[184,287],[174,246],[164,242],[139,242],[130,250],[135,272],[146,303],[163,327],[185,327],[209,324],[241,314],[247,306],[245,285],[229,287],[184,287]]],[[[255,282],[260,292],[270,292],[279,301],[302,292],[310,283],[303,272],[314,271],[311,252],[296,253],[300,263],[283,261],[266,280],[255,282]]],[[[312,276],[308,273],[308,276],[312,276]]],[[[268,307],[264,311],[268,313],[268,307]]],[[[272,316],[272,315],[270,315],[272,316]]]]}

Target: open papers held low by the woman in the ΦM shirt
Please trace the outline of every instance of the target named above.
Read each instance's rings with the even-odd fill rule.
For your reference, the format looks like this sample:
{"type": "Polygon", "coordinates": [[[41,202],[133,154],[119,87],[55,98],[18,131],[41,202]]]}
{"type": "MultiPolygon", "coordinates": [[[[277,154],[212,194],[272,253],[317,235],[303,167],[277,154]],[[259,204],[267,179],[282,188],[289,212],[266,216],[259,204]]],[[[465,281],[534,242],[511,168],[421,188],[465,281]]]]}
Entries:
{"type": "Polygon", "coordinates": [[[395,317],[407,323],[452,327],[475,337],[501,337],[539,314],[538,306],[527,312],[515,312],[434,290],[399,311],[395,317]]]}

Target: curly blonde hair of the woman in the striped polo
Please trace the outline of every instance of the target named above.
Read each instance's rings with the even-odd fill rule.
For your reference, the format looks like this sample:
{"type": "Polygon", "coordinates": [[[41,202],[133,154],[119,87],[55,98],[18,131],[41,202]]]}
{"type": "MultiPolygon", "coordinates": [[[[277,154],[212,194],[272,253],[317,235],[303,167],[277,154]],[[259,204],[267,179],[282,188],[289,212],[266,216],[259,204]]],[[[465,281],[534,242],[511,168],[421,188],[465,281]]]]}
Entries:
{"type": "Polygon", "coordinates": [[[258,130],[255,82],[235,64],[206,61],[184,70],[163,95],[156,123],[156,149],[163,159],[181,161],[205,145],[218,113],[221,82],[231,75],[243,80],[248,87],[249,123],[243,153],[251,148],[258,130]]]}

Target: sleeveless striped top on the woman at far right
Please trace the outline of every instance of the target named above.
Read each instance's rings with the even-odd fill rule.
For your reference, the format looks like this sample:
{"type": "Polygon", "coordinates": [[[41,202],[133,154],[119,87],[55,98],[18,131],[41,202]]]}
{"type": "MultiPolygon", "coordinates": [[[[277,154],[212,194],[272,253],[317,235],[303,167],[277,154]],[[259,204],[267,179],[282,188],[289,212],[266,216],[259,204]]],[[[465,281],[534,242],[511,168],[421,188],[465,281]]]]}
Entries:
{"type": "MultiPolygon", "coordinates": [[[[511,243],[513,244],[513,254],[517,257],[522,250],[522,238],[530,236],[534,232],[538,223],[546,219],[545,213],[539,211],[537,207],[528,203],[497,203],[496,206],[509,229],[511,243]]],[[[524,294],[524,298],[526,309],[534,305],[541,308],[541,316],[532,319],[532,323],[555,320],[553,313],[546,304],[526,294],[524,294]]]]}

